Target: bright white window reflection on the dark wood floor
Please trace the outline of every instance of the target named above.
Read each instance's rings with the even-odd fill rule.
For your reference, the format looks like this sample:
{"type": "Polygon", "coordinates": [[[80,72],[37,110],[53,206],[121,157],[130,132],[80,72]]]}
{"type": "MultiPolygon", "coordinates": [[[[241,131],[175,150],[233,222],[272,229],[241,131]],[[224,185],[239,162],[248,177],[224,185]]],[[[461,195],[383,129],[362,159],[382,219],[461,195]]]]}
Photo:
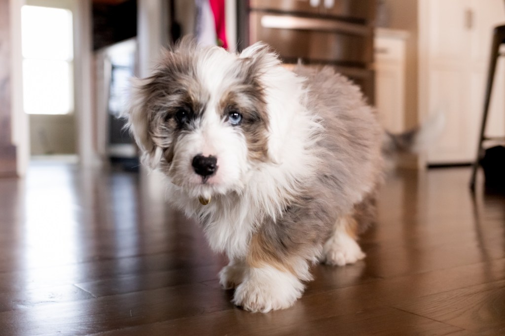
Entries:
{"type": "Polygon", "coordinates": [[[41,164],[30,167],[25,189],[24,268],[77,261],[79,204],[74,166],[41,164]]]}

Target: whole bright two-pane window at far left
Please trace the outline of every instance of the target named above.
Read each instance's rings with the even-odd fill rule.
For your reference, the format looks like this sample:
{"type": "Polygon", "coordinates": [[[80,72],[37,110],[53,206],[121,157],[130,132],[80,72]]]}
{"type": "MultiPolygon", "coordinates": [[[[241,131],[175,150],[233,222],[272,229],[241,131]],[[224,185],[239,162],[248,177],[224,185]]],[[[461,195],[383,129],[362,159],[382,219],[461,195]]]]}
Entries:
{"type": "Polygon", "coordinates": [[[21,29],[25,112],[71,113],[74,110],[72,12],[23,6],[21,29]]]}

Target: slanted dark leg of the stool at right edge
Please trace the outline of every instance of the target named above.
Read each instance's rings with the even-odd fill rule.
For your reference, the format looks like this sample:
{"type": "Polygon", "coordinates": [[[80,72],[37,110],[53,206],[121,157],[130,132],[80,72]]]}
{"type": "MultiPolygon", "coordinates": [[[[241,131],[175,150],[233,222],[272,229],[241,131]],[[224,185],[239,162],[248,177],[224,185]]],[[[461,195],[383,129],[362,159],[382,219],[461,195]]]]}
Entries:
{"type": "Polygon", "coordinates": [[[487,113],[489,110],[489,103],[491,101],[491,91],[493,88],[493,81],[494,81],[494,71],[496,70],[496,61],[498,60],[499,57],[499,47],[500,44],[503,40],[503,36],[500,36],[500,31],[495,29],[493,32],[493,42],[491,45],[491,54],[490,54],[490,59],[489,59],[489,69],[487,73],[487,83],[486,83],[486,92],[484,96],[484,111],[482,115],[482,124],[480,127],[480,134],[479,134],[479,145],[477,146],[477,155],[475,162],[472,167],[472,177],[470,180],[470,188],[472,191],[475,191],[475,180],[477,177],[477,169],[479,167],[479,161],[482,158],[482,153],[483,153],[483,148],[482,148],[482,142],[484,141],[484,132],[486,131],[486,122],[487,122],[487,113]]]}

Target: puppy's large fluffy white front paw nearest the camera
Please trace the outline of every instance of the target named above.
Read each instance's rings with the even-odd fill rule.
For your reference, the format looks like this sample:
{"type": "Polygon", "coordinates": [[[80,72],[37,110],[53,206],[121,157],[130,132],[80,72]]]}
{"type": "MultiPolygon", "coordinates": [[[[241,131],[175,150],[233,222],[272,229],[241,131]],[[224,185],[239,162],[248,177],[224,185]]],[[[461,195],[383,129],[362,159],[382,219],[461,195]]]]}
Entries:
{"type": "Polygon", "coordinates": [[[304,289],[291,273],[271,266],[249,268],[244,281],[235,290],[232,302],[244,310],[267,313],[291,307],[304,289]]]}

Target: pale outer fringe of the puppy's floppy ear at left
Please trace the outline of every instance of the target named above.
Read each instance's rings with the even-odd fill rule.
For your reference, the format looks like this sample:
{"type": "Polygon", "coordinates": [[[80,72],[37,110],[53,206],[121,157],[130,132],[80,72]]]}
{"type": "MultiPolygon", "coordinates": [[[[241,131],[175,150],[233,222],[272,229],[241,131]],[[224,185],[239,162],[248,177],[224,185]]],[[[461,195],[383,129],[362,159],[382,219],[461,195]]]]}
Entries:
{"type": "Polygon", "coordinates": [[[150,169],[155,169],[160,162],[163,151],[154,144],[149,134],[149,111],[146,109],[145,90],[143,89],[148,82],[149,79],[134,78],[131,80],[127,127],[140,148],[141,162],[150,169]]]}

